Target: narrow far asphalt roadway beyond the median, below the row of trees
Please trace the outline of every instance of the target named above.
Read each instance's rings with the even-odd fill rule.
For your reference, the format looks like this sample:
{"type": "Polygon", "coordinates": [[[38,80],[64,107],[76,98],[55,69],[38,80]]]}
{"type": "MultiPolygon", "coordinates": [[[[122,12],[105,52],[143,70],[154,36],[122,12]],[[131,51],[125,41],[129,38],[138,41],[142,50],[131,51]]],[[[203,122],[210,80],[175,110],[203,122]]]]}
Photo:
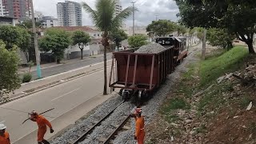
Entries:
{"type": "MultiPolygon", "coordinates": [[[[110,60],[111,57],[112,57],[112,53],[106,54],[106,60],[110,60]]],[[[44,68],[41,70],[42,78],[46,78],[54,74],[63,73],[69,70],[78,69],[83,66],[90,66],[98,62],[103,62],[103,55],[95,58],[86,58],[77,62],[70,62],[70,63],[58,65],[58,66],[51,66],[49,68],[44,68]]],[[[38,78],[36,70],[31,71],[31,74],[32,74],[32,79],[38,78]]]]}

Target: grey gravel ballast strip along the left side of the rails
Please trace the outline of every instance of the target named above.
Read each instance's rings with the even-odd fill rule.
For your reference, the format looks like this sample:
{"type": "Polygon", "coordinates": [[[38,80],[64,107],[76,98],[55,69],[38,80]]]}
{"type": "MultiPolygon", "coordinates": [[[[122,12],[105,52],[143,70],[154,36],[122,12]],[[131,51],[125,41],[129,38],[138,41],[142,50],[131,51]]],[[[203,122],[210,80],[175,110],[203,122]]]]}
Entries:
{"type": "Polygon", "coordinates": [[[89,130],[90,126],[94,125],[94,122],[98,122],[101,118],[104,118],[106,114],[110,113],[110,111],[118,106],[120,102],[122,102],[122,98],[120,96],[110,98],[106,102],[102,103],[102,105],[98,106],[94,111],[94,114],[91,114],[90,117],[86,119],[78,120],[73,127],[60,134],[57,138],[54,138],[50,143],[67,144],[69,142],[73,142],[82,136],[86,130],[89,130]]]}

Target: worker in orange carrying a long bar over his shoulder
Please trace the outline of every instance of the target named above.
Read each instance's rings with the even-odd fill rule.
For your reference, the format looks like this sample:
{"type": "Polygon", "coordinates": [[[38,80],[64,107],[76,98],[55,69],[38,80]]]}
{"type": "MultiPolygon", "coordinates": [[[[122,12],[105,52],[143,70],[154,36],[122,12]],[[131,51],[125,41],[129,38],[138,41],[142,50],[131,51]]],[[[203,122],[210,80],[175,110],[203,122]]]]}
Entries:
{"type": "Polygon", "coordinates": [[[47,131],[46,125],[50,127],[50,133],[54,132],[50,122],[34,110],[30,113],[30,120],[38,123],[38,144],[50,144],[43,138],[47,131]]]}

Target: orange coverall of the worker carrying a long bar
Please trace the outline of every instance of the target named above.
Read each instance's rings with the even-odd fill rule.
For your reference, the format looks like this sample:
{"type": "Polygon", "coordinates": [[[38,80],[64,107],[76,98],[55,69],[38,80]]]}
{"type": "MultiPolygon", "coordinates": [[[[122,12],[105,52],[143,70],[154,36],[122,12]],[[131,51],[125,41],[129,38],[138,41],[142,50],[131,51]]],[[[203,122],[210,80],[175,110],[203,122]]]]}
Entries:
{"type": "Polygon", "coordinates": [[[33,121],[38,123],[38,142],[42,142],[47,130],[46,125],[49,126],[50,129],[52,129],[52,126],[42,115],[38,115],[33,121]]]}

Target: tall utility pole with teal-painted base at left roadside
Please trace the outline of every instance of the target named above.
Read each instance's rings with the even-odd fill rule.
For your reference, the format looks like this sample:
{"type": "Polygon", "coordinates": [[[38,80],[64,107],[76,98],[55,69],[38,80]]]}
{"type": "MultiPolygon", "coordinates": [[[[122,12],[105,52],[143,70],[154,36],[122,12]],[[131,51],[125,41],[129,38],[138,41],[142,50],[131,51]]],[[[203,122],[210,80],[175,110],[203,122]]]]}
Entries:
{"type": "Polygon", "coordinates": [[[35,20],[34,20],[34,5],[33,5],[33,0],[31,2],[31,11],[32,11],[32,24],[33,24],[33,33],[34,33],[34,51],[35,51],[35,58],[37,61],[37,74],[38,78],[42,78],[41,75],[41,66],[40,66],[40,52],[38,50],[38,34],[36,32],[35,28],[35,20]]]}

